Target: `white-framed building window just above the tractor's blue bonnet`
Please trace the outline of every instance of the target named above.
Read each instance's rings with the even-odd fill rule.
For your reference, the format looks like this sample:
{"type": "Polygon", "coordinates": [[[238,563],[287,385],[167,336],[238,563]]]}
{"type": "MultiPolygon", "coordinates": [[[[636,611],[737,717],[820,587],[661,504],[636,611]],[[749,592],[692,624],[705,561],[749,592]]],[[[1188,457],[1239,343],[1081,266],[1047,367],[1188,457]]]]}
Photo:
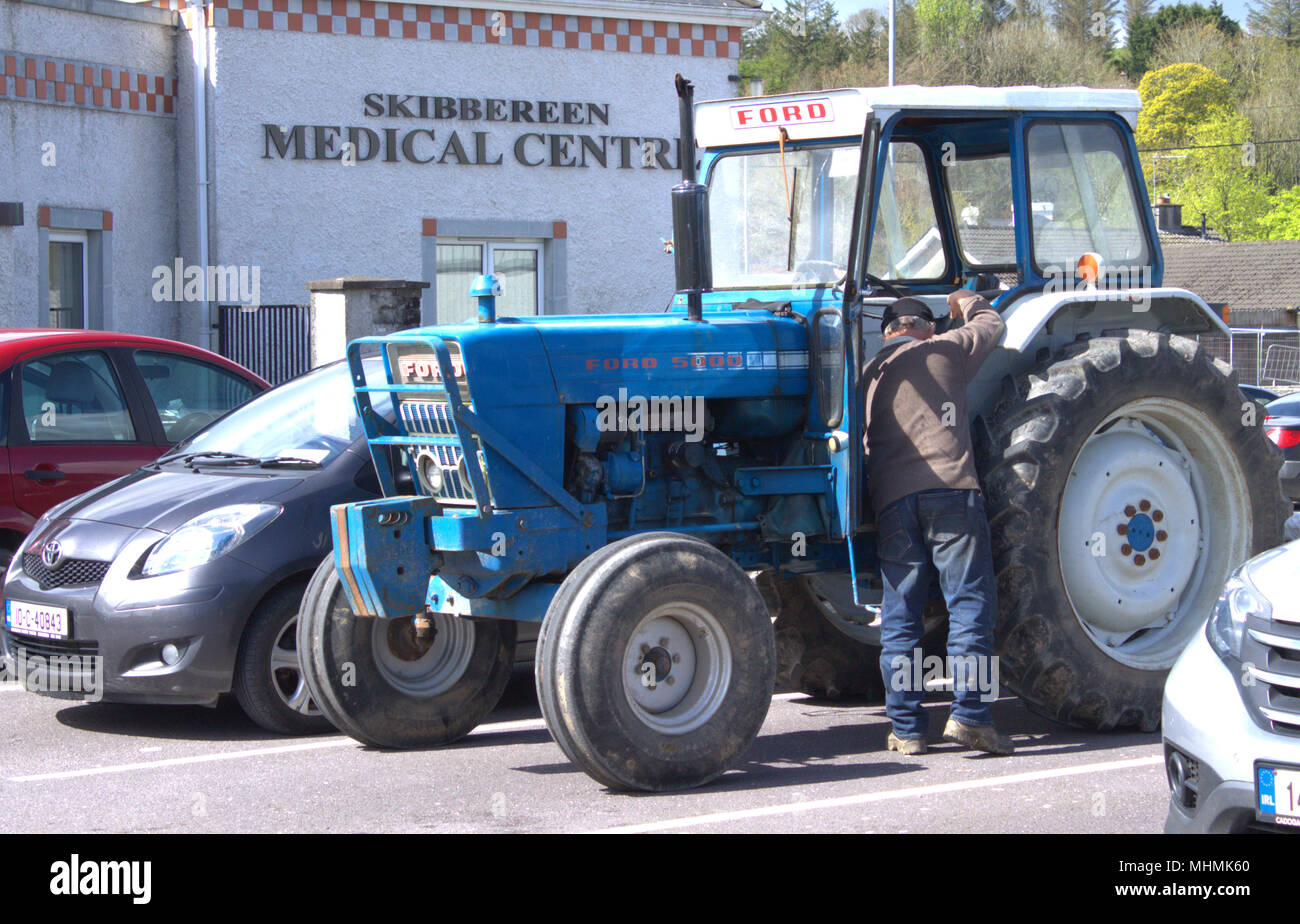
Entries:
{"type": "Polygon", "coordinates": [[[438,240],[437,299],[439,324],[463,324],[477,317],[469,286],[481,273],[500,279],[503,295],[497,313],[507,317],[538,314],[546,291],[540,240],[438,240]]]}

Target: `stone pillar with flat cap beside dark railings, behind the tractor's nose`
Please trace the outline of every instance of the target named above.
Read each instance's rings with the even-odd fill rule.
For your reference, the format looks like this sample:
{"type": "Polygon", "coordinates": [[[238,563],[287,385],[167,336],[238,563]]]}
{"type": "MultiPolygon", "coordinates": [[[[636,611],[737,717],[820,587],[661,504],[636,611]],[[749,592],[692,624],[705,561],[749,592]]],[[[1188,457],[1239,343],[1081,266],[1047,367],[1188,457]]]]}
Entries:
{"type": "Polygon", "coordinates": [[[343,359],[358,337],[420,326],[420,298],[428,282],[342,276],[308,282],[312,294],[312,368],[343,359]]]}

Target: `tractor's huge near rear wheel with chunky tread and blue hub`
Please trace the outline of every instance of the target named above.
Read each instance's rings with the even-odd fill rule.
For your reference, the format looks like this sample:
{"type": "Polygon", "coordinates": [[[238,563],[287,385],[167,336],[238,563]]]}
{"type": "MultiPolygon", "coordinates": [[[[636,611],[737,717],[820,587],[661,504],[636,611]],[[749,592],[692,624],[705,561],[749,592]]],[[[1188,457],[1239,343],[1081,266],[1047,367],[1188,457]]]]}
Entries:
{"type": "Polygon", "coordinates": [[[1158,725],[1165,676],[1228,573],[1282,542],[1258,411],[1195,340],[1147,330],[1071,344],[994,409],[997,652],[1031,710],[1158,725]]]}

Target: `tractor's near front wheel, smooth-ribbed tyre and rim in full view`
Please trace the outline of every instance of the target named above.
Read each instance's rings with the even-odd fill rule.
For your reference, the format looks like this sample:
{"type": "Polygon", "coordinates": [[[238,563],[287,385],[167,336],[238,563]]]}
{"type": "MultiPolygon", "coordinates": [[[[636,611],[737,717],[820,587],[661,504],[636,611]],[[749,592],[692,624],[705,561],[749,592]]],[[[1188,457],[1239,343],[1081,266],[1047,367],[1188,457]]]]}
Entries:
{"type": "Polygon", "coordinates": [[[610,789],[699,786],[767,716],[776,646],[754,584],[706,542],[650,533],[588,556],[537,642],[542,716],[610,789]]]}

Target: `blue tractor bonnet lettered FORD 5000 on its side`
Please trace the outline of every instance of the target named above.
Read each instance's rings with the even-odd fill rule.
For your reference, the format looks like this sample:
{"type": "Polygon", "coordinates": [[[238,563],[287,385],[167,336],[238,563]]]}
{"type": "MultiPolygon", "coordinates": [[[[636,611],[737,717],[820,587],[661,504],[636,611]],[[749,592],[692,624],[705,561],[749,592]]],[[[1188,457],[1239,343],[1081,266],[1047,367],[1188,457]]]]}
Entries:
{"type": "Polygon", "coordinates": [[[446,394],[433,338],[447,343],[462,399],[473,412],[465,424],[472,433],[462,437],[477,441],[493,504],[503,509],[555,503],[546,485],[563,480],[569,405],[628,396],[771,399],[810,389],[802,317],[768,311],[716,312],[703,321],[676,313],[507,317],[378,338],[395,385],[416,386],[398,394],[408,435],[443,418],[428,411],[446,394]]]}

